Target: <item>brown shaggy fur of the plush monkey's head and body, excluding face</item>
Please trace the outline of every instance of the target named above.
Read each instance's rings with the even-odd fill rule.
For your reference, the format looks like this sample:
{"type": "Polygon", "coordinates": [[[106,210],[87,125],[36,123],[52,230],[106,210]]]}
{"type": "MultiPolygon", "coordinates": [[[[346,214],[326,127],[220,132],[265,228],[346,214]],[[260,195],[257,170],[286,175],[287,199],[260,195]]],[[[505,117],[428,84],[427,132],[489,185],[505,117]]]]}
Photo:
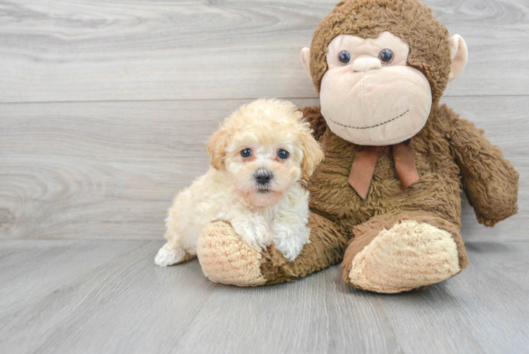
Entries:
{"type": "Polygon", "coordinates": [[[344,281],[349,283],[347,275],[356,253],[380,230],[403,219],[428,222],[450,232],[463,269],[468,261],[459,233],[461,191],[467,194],[479,222],[488,227],[517,211],[518,173],[513,166],[483,137],[482,130],[438,104],[450,72],[448,30],[418,1],[349,0],[337,4],[318,25],[310,50],[310,71],[318,92],[327,71],[327,45],[333,38],[339,34],[376,38],[385,30],[407,42],[407,64],[422,72],[431,86],[431,113],[413,140],[419,181],[403,191],[392,149],[383,147],[368,196],[362,200],[347,183],[358,146],[333,134],[319,108],[305,108],[303,113],[325,150],[324,161],[308,183],[311,244],[304,246],[292,263],[273,246],[264,251],[261,272],[267,284],[305,276],[342,257],[344,281]]]}

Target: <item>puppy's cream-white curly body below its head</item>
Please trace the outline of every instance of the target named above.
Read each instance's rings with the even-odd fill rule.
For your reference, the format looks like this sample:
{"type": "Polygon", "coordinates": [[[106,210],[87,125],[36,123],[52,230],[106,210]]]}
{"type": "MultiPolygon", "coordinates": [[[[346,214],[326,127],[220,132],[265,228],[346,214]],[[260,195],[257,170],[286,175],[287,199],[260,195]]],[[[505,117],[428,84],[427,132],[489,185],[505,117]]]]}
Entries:
{"type": "MultiPolygon", "coordinates": [[[[301,185],[293,185],[277,205],[255,207],[240,198],[225,174],[210,169],[177,195],[165,220],[168,246],[194,256],[200,230],[209,222],[223,220],[231,223],[249,246],[265,248],[274,242],[286,258],[296,258],[308,241],[308,192],[301,185]]],[[[189,258],[185,253],[177,253],[180,259],[167,261],[185,261],[189,258]]]]}

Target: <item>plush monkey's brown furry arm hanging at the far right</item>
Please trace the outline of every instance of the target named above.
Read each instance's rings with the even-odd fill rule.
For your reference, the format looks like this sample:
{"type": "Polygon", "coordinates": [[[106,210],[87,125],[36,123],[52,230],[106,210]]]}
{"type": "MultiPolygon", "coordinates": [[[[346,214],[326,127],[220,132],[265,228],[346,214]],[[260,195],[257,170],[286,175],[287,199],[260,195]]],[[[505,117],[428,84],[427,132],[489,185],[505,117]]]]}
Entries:
{"type": "Polygon", "coordinates": [[[492,227],[518,211],[519,174],[485,139],[483,130],[450,113],[450,144],[463,175],[463,189],[479,223],[492,227]]]}

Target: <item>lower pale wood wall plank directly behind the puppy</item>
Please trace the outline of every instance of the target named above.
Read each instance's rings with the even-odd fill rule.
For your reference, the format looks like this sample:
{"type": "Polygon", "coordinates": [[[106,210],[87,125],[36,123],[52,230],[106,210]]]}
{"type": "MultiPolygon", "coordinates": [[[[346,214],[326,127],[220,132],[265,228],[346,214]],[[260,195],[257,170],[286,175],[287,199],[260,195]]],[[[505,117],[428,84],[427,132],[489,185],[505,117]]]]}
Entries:
{"type": "MultiPolygon", "coordinates": [[[[296,105],[317,105],[295,99],[296,105]]],[[[204,142],[248,100],[0,105],[0,239],[161,239],[175,193],[205,173],[204,142]]],[[[446,98],[521,172],[518,215],[463,236],[526,240],[527,97],[446,98]]]]}

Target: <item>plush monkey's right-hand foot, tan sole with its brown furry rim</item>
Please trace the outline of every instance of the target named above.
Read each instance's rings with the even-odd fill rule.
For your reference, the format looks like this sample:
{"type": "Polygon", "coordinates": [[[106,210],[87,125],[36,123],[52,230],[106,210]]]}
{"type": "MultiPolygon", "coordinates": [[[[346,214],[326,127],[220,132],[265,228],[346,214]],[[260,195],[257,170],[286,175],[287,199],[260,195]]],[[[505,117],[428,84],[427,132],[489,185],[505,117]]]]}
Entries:
{"type": "Polygon", "coordinates": [[[427,212],[379,215],[353,229],[342,268],[347,284],[373,292],[419,289],[468,264],[460,227],[427,212]]]}

